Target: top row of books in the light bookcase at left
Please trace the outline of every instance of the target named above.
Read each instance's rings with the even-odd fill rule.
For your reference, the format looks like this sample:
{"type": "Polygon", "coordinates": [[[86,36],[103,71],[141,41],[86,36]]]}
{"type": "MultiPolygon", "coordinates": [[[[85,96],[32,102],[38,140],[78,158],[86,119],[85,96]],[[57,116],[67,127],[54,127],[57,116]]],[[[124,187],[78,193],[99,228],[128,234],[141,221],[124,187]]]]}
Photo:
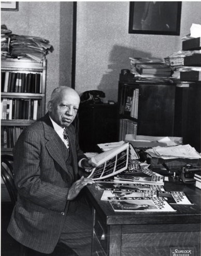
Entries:
{"type": "Polygon", "coordinates": [[[41,93],[40,73],[1,72],[1,91],[19,93],[41,93]]]}

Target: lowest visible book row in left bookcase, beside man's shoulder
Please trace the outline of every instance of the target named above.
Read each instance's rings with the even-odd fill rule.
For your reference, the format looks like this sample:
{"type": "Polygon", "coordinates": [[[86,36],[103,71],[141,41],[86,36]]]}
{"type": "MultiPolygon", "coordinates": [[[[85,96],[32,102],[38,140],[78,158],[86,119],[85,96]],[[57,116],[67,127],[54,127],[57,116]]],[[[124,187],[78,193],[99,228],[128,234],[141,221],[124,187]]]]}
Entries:
{"type": "Polygon", "coordinates": [[[13,148],[22,131],[26,126],[2,126],[1,127],[1,147],[13,148]]]}

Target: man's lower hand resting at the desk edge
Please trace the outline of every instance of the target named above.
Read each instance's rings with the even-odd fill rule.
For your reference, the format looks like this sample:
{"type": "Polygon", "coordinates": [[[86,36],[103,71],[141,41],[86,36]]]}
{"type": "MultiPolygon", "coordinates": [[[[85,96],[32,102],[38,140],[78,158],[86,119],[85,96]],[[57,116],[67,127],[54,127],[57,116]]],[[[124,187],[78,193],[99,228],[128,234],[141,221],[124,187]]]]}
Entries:
{"type": "Polygon", "coordinates": [[[83,187],[93,183],[95,182],[92,179],[84,178],[84,176],[82,176],[79,180],[76,180],[69,188],[67,200],[74,200],[79,194],[80,190],[83,189],[83,187]]]}

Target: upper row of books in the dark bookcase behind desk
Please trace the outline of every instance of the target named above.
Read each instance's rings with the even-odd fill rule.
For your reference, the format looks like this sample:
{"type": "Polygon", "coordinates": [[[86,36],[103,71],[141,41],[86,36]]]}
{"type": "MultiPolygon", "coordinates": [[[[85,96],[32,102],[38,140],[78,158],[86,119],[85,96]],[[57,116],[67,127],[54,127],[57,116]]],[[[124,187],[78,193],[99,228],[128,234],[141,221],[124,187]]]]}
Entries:
{"type": "Polygon", "coordinates": [[[138,101],[139,101],[139,89],[133,90],[133,96],[127,96],[125,103],[125,112],[129,112],[133,118],[138,118],[138,101]]]}

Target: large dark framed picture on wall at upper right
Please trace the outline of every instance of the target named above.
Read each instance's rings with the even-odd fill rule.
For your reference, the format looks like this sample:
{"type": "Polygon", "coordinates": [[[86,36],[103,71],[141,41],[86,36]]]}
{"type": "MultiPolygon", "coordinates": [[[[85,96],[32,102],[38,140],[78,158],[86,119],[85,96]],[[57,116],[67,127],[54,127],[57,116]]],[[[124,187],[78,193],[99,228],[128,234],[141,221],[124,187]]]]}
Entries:
{"type": "Polygon", "coordinates": [[[181,2],[130,2],[131,34],[180,35],[181,2]]]}

